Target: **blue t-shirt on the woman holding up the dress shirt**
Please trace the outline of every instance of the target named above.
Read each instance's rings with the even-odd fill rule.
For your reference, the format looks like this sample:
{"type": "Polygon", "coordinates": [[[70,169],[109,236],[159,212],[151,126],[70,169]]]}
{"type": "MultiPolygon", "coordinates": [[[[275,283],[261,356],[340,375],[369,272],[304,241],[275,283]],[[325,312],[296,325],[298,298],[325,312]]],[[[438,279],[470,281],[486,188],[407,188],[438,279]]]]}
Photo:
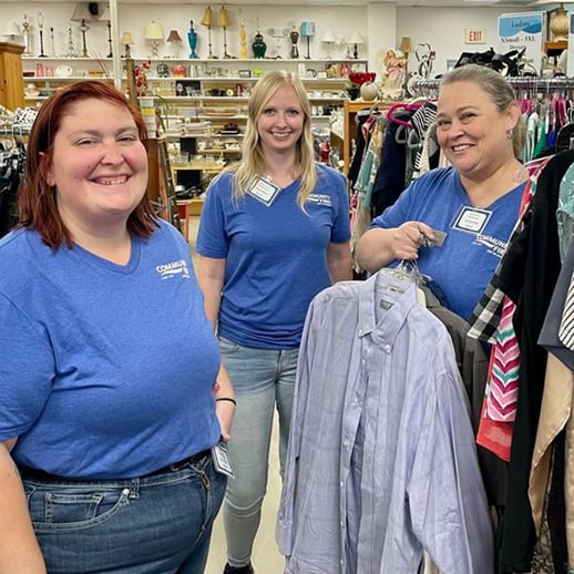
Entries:
{"type": "Polygon", "coordinates": [[[445,232],[441,247],[419,249],[419,270],[447,297],[447,307],[469,320],[504,254],[514,228],[525,184],[474,209],[453,167],[431,170],[416,180],[371,227],[422,222],[445,232]]]}

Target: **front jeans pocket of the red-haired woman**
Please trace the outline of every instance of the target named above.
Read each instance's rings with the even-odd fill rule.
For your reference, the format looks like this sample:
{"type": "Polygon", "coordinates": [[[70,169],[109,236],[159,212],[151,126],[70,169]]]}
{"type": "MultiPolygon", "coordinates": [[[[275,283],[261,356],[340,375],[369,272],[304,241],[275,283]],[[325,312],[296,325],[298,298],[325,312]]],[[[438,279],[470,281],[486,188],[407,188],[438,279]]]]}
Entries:
{"type": "Polygon", "coordinates": [[[35,530],[78,530],[101,524],[129,503],[129,489],[38,488],[24,481],[30,517],[35,530]]]}

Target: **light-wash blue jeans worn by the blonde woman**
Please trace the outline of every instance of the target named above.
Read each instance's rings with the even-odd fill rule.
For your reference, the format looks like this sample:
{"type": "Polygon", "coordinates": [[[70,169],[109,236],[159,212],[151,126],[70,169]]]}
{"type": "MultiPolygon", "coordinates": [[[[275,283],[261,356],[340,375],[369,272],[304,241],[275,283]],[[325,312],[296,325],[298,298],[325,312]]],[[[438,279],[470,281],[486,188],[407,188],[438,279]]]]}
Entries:
{"type": "Polygon", "coordinates": [[[223,337],[219,348],[237,399],[229,442],[235,478],[227,483],[224,503],[227,562],[244,566],[252,556],[267,489],[275,407],[279,413],[283,475],[299,350],[253,349],[223,337]]]}

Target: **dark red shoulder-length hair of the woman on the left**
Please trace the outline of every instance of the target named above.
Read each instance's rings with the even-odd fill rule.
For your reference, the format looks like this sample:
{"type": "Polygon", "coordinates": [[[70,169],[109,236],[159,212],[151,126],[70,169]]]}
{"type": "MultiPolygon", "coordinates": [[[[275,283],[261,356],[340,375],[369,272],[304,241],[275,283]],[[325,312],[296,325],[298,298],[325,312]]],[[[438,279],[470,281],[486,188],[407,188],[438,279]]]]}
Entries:
{"type": "MultiPolygon", "coordinates": [[[[52,163],[53,142],[68,109],[82,100],[95,98],[127,110],[135,122],[140,140],[147,150],[147,131],[140,111],[122,92],[107,82],[85,80],[58,90],[40,107],[27,146],[24,176],[18,191],[19,227],[37,229],[42,240],[54,249],[62,243],[73,246],[55,202],[55,187],[47,182],[52,163]]],[[[94,119],[96,122],[98,119],[94,119]]],[[[147,194],[127,218],[127,230],[137,237],[150,237],[157,227],[157,217],[147,194]]]]}

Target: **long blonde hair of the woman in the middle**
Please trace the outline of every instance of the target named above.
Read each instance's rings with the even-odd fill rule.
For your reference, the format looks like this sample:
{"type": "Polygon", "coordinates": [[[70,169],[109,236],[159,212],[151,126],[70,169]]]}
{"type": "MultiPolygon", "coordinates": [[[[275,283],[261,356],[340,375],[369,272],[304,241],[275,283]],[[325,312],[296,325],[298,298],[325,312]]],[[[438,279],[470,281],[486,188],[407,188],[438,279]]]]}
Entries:
{"type": "Polygon", "coordinates": [[[228,166],[223,173],[233,172],[233,195],[239,199],[245,194],[254,176],[265,176],[265,157],[262,151],[257,122],[267,102],[277,90],[291,85],[297,94],[304,114],[303,132],[297,142],[295,171],[300,178],[297,204],[305,212],[305,202],[317,184],[317,168],[312,147],[311,106],[305,86],[298,75],[286,71],[264,74],[255,84],[247,104],[247,125],[242,148],[242,160],[228,166]]]}

